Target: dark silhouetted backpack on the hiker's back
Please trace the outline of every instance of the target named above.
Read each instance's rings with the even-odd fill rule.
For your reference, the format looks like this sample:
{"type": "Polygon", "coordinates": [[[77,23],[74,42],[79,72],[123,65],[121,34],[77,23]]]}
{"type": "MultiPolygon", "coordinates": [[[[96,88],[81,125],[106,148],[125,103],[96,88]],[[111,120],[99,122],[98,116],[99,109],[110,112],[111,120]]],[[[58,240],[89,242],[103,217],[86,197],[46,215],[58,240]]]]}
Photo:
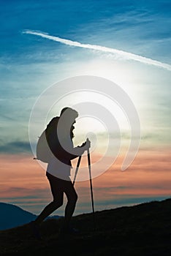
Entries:
{"type": "Polygon", "coordinates": [[[37,141],[37,157],[34,159],[48,163],[53,157],[53,154],[56,154],[56,151],[58,151],[58,140],[54,140],[54,137],[50,139],[50,137],[54,136],[54,132],[56,132],[57,124],[58,116],[47,124],[47,128],[42,132],[37,141]]]}

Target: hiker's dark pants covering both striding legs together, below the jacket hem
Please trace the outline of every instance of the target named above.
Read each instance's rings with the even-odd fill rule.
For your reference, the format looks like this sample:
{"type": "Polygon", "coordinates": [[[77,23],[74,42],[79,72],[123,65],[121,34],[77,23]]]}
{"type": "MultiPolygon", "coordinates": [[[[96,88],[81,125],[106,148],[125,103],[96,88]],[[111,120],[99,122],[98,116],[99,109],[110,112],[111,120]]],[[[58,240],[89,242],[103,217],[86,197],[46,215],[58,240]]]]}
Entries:
{"type": "Polygon", "coordinates": [[[72,184],[72,181],[65,181],[60,178],[47,173],[47,178],[50,183],[50,189],[53,195],[53,201],[49,203],[41,214],[35,220],[37,224],[40,224],[46,217],[56,211],[64,202],[64,193],[67,197],[67,203],[65,208],[65,225],[69,225],[69,221],[72,217],[72,214],[75,211],[75,205],[77,203],[77,193],[72,184]]]}

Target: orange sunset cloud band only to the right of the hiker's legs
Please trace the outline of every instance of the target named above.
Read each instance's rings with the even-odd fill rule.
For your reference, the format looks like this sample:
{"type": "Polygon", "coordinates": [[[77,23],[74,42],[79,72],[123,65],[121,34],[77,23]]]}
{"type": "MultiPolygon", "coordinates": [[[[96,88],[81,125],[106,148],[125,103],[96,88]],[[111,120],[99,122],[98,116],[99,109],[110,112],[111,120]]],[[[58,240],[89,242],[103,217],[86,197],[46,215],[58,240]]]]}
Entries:
{"type": "MultiPolygon", "coordinates": [[[[171,196],[171,159],[170,151],[140,151],[132,165],[121,171],[123,156],[118,157],[115,164],[102,176],[94,178],[94,197],[96,201],[105,201],[115,206],[115,201],[121,200],[129,204],[134,198],[170,197],[171,196]]],[[[93,170],[92,170],[93,171],[93,170]]],[[[79,192],[83,191],[86,199],[89,186],[87,181],[78,182],[79,192]],[[84,189],[83,189],[84,188],[84,189]]]]}

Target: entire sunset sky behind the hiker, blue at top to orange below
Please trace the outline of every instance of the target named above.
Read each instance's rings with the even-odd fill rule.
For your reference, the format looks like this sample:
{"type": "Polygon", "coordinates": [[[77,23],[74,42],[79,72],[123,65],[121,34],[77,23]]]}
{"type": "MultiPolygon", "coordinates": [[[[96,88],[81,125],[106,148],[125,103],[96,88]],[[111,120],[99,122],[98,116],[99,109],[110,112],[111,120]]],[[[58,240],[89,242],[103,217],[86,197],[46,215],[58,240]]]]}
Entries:
{"type": "MultiPolygon", "coordinates": [[[[99,113],[96,118],[78,119],[74,142],[82,143],[87,134],[92,138],[92,173],[103,159],[104,171],[93,179],[96,211],[170,197],[171,2],[0,3],[0,201],[34,214],[50,202],[45,169],[33,160],[37,136],[62,107],[75,105],[81,110],[85,102],[99,106],[99,113]],[[118,85],[137,111],[140,146],[124,171],[121,165],[129,143],[136,140],[137,127],[130,127],[126,111],[129,118],[132,115],[122,108],[124,101],[120,106],[114,102],[118,95],[114,87],[108,90],[107,81],[104,89],[93,85],[96,91],[84,83],[72,85],[66,94],[67,83],[62,81],[76,78],[78,83],[80,76],[118,85]],[[75,91],[79,86],[87,91],[75,91]],[[47,95],[46,104],[37,105],[47,95]],[[115,118],[116,130],[105,124],[101,109],[115,118]],[[36,110],[41,122],[31,119],[36,110]],[[104,155],[109,144],[113,151],[104,155]],[[109,167],[108,160],[113,163],[109,167]]],[[[76,182],[75,188],[79,196],[75,214],[90,212],[89,181],[76,182]]],[[[64,206],[55,214],[64,214],[64,206]]]]}

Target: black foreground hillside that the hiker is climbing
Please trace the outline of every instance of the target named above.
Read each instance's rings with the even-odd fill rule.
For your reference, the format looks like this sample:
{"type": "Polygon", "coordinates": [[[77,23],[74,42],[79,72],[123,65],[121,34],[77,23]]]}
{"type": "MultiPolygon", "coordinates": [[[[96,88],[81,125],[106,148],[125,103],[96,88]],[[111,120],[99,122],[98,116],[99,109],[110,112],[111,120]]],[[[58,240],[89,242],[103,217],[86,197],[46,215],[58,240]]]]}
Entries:
{"type": "Polygon", "coordinates": [[[1,255],[79,256],[170,256],[171,199],[96,211],[72,218],[80,230],[75,236],[60,236],[62,219],[47,219],[41,225],[42,241],[31,226],[0,231],[1,255]]]}

